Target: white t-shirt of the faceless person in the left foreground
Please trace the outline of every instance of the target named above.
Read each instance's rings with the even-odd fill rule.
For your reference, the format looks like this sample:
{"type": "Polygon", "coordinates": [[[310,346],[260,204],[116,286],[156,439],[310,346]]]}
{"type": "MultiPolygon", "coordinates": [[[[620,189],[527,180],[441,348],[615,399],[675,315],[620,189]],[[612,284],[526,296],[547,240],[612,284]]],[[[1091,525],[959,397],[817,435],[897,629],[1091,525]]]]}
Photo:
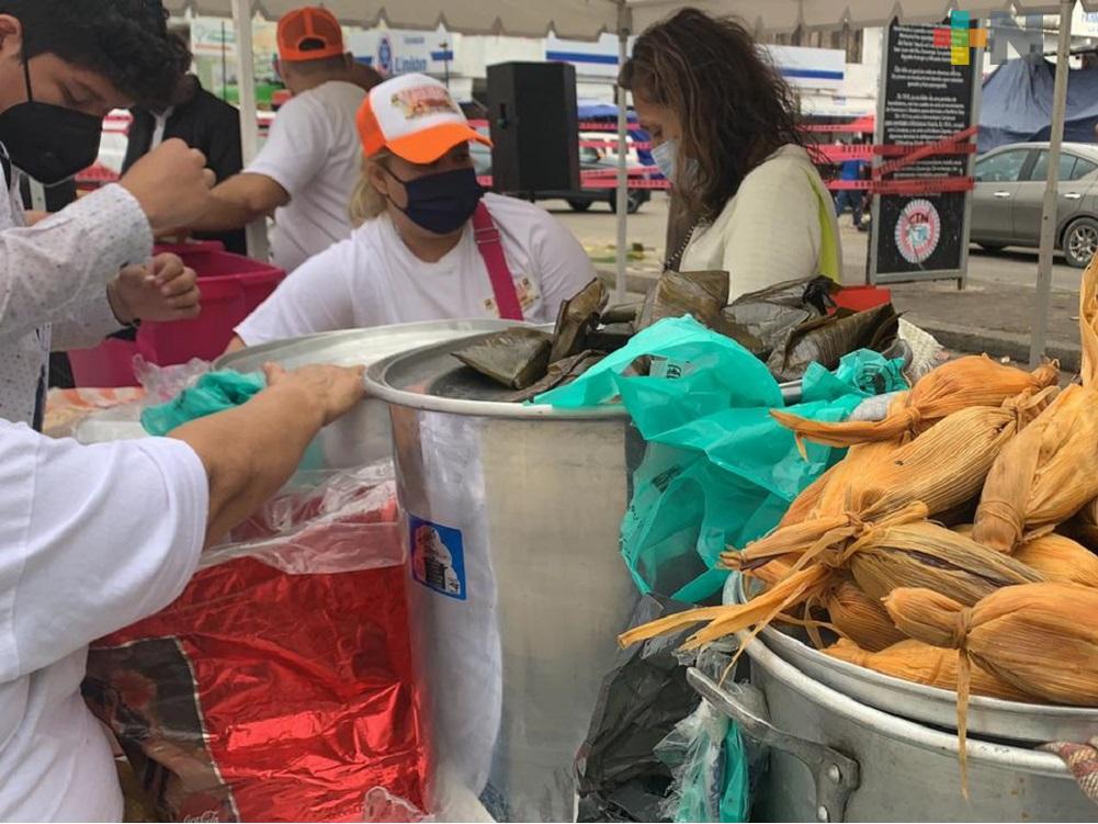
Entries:
{"type": "Polygon", "coordinates": [[[0,821],[121,821],[88,644],[175,600],[205,538],[194,452],[96,446],[0,422],[0,821]]]}

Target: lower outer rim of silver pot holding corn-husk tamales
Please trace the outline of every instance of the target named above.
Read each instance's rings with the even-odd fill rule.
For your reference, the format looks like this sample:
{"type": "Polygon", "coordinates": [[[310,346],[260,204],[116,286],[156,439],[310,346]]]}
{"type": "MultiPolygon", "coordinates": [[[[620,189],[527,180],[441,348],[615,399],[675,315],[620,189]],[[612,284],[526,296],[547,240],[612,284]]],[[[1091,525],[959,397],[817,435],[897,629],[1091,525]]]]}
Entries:
{"type": "MultiPolygon", "coordinates": [[[[737,637],[743,641],[747,634],[739,633],[737,637]]],[[[754,666],[761,667],[769,676],[827,712],[833,712],[888,738],[911,744],[920,749],[954,754],[960,751],[955,733],[939,732],[867,706],[849,695],[843,695],[782,659],[760,638],[754,638],[748,645],[747,654],[751,657],[754,666]]],[[[1018,770],[1071,779],[1067,766],[1052,753],[991,744],[971,737],[967,742],[967,749],[970,764],[988,764],[1001,768],[1004,761],[1007,761],[1011,768],[1018,770]]]]}

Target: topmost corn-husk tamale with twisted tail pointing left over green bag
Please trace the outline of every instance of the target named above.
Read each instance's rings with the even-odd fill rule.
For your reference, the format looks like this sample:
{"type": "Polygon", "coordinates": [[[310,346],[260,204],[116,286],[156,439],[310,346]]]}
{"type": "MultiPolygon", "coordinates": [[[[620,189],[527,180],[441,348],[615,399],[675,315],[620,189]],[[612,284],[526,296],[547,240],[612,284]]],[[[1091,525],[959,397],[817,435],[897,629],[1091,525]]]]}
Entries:
{"type": "Polygon", "coordinates": [[[1045,364],[1032,372],[974,355],[943,364],[900,396],[881,421],[810,421],[788,412],[771,414],[798,441],[827,446],[851,446],[870,441],[907,441],[942,419],[970,407],[999,407],[1027,390],[1056,383],[1060,367],[1045,364]]]}

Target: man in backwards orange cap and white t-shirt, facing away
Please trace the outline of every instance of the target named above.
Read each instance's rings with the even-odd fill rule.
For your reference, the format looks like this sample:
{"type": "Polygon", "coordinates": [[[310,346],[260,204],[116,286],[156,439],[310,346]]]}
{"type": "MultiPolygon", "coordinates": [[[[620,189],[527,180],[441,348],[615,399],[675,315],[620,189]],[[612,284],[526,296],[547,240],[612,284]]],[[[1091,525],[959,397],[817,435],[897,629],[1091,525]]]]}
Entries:
{"type": "Polygon", "coordinates": [[[350,235],[347,205],[361,162],[355,115],[366,91],[326,9],[285,14],[278,48],[279,74],[293,98],[256,159],[213,190],[215,208],[190,229],[225,232],[273,213],[273,261],[292,271],[350,235]]]}

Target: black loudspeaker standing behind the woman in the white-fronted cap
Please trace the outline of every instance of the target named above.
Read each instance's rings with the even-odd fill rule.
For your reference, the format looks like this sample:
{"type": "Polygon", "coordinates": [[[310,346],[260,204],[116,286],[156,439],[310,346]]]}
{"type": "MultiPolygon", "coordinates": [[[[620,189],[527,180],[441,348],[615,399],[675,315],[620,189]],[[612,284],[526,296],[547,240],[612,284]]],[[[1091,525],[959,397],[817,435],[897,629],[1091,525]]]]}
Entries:
{"type": "Polygon", "coordinates": [[[489,66],[488,101],[493,189],[523,194],[580,188],[574,66],[489,66]]]}

